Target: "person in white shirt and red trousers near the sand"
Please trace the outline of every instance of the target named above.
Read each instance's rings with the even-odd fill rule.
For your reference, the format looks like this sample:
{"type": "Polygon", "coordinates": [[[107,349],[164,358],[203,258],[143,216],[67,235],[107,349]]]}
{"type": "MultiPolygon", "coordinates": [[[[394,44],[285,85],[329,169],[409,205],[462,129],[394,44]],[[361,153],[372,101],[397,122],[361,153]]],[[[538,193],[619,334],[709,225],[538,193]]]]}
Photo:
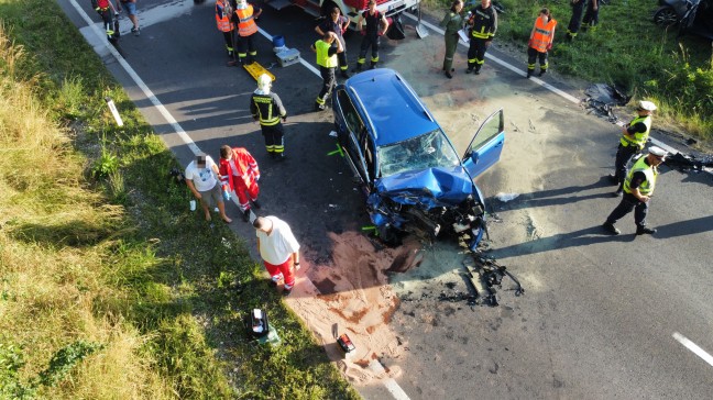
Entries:
{"type": "Polygon", "coordinates": [[[277,287],[284,279],[283,296],[289,296],[295,286],[295,270],[299,269],[299,243],[289,225],[277,216],[257,216],[253,226],[260,257],[270,274],[270,285],[277,287]]]}

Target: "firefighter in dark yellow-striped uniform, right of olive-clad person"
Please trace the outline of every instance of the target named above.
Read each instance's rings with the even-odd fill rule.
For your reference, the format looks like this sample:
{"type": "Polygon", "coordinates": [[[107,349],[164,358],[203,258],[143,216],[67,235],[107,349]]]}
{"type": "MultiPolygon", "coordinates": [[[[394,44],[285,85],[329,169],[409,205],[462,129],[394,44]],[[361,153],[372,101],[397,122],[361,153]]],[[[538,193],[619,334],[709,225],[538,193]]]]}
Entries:
{"type": "Polygon", "coordinates": [[[474,7],[468,20],[470,25],[470,47],[468,48],[468,69],[465,74],[480,74],[485,63],[485,52],[493,43],[497,31],[497,12],[491,5],[491,0],[481,0],[481,4],[474,7]]]}

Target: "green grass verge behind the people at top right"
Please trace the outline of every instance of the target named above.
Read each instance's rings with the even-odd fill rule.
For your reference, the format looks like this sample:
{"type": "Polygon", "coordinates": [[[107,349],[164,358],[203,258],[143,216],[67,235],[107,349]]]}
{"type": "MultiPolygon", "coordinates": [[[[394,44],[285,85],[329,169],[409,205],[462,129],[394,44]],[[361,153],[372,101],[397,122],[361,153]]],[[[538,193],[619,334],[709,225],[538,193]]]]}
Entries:
{"type": "MultiPolygon", "coordinates": [[[[450,1],[436,0],[440,8],[450,1]]],[[[478,1],[480,3],[480,1],[478,1]]],[[[558,21],[549,63],[553,70],[624,89],[634,99],[654,100],[657,124],[663,122],[704,141],[713,141],[713,47],[695,36],[677,38],[652,22],[655,0],[612,0],[600,8],[600,24],[580,31],[573,42],[564,35],[571,16],[569,1],[500,0],[496,41],[527,49],[539,10],[547,7],[558,21]]]]}

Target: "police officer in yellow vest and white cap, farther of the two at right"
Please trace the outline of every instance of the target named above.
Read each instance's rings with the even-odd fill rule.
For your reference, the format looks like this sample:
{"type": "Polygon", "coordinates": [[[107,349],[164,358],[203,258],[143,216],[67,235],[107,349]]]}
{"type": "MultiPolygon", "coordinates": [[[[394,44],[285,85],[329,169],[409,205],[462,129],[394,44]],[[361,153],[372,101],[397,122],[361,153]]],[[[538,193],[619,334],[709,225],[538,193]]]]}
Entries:
{"type": "Polygon", "coordinates": [[[614,196],[622,196],[624,190],[624,178],[626,177],[626,165],[635,154],[644,149],[648,141],[649,132],[651,131],[651,114],[656,110],[656,104],[650,101],[639,101],[636,108],[637,116],[624,126],[619,146],[616,151],[616,159],[614,160],[615,173],[610,175],[612,184],[618,184],[619,187],[614,192],[614,196]]]}

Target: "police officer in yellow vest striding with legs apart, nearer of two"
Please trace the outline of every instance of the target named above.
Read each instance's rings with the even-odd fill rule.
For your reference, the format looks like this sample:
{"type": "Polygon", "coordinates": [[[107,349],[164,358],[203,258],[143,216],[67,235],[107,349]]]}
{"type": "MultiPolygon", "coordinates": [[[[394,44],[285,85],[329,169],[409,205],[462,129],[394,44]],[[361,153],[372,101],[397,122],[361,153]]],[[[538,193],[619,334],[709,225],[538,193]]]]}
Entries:
{"type": "Polygon", "coordinates": [[[634,222],[636,223],[636,234],[652,234],[655,229],[646,226],[646,214],[648,213],[648,203],[654,196],[656,188],[656,178],[659,174],[658,166],[666,159],[666,151],[660,147],[649,147],[649,153],[645,157],[634,163],[632,170],[624,180],[624,197],[622,202],[612,211],[606,222],[602,225],[606,232],[618,235],[622,233],[614,224],[622,216],[634,210],[634,222]]]}

